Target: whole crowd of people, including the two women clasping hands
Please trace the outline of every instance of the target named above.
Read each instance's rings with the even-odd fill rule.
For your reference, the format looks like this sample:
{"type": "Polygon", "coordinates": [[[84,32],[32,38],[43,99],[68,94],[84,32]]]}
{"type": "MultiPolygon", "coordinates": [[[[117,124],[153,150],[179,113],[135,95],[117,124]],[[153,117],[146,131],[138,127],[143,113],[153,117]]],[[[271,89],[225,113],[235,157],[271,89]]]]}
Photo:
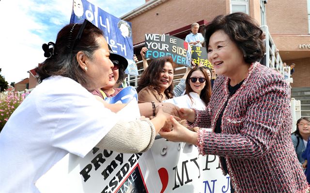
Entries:
{"type": "Polygon", "coordinates": [[[186,42],[205,46],[214,69],[193,64],[174,86],[171,57],[148,64],[143,47],[136,89],[142,117],[124,121],[116,112],[126,104],[107,98],[124,88],[126,59],[91,22],[63,27],[55,44],[43,45],[40,85],[0,133],[1,191],[38,192],[34,182],[68,152],[84,157],[95,146],[144,152],[156,134],[219,156],[232,193],[309,191],[310,121],[299,119],[291,134],[289,83],[258,62],[264,55],[259,25],[233,13],[215,17],[203,34],[198,30],[192,24],[186,42]]]}

